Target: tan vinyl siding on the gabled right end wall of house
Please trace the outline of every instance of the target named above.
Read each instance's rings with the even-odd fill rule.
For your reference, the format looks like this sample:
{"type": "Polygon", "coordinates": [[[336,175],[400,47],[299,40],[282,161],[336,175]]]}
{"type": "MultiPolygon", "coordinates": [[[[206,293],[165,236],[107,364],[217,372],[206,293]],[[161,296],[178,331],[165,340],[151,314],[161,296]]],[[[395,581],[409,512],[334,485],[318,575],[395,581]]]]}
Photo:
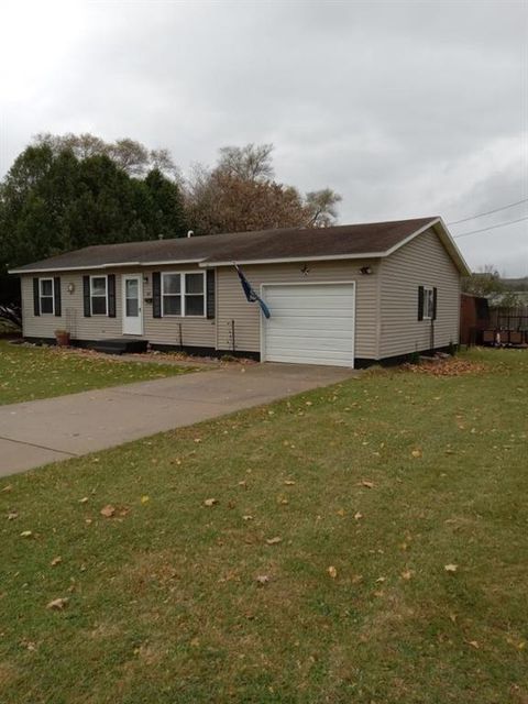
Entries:
{"type": "Polygon", "coordinates": [[[430,320],[418,320],[418,287],[438,289],[435,346],[459,341],[460,274],[438,235],[428,230],[381,267],[380,359],[430,349],[430,320]]]}

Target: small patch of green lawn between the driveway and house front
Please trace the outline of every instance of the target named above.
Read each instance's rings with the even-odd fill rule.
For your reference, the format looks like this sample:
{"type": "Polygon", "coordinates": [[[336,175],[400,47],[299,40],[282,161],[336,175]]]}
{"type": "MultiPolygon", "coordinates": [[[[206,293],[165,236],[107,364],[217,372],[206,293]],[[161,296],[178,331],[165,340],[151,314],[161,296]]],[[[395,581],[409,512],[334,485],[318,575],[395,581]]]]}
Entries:
{"type": "Polygon", "coordinates": [[[58,348],[13,345],[0,340],[0,405],[144,382],[189,371],[176,365],[128,363],[112,358],[74,354],[58,348]]]}

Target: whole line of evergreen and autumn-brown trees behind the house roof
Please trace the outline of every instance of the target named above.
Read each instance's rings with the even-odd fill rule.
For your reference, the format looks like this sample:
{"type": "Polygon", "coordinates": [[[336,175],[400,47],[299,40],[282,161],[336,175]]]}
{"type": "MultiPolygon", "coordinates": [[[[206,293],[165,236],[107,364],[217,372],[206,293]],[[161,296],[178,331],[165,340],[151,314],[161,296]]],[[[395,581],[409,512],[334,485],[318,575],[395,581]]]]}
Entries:
{"type": "Polygon", "coordinates": [[[8,268],[94,244],[337,221],[330,188],[300,194],[275,179],[272,144],[219,150],[184,178],[168,150],[131,139],[38,134],[0,182],[0,302],[8,268]]]}

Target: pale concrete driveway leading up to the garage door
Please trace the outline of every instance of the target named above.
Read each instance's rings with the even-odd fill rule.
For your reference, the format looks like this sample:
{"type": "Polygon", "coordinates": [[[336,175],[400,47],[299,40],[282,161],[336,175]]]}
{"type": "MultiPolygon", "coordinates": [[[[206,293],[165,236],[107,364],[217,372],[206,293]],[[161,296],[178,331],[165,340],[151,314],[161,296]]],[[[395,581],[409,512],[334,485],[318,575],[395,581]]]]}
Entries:
{"type": "Polygon", "coordinates": [[[341,382],[353,370],[294,364],[210,372],[0,406],[0,476],[341,382]]]}

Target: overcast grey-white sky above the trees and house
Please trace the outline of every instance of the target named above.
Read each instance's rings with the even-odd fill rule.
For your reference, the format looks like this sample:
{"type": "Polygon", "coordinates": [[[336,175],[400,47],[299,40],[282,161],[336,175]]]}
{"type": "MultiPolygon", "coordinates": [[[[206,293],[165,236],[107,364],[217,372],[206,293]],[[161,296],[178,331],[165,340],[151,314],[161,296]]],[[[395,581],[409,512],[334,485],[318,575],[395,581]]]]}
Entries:
{"type": "MultiPolygon", "coordinates": [[[[528,198],[528,4],[2,2],[0,176],[44,131],[166,146],[184,173],[273,142],[277,179],[338,190],[342,223],[449,223],[528,198]]],[[[458,243],[528,275],[528,220],[458,243]]]]}

